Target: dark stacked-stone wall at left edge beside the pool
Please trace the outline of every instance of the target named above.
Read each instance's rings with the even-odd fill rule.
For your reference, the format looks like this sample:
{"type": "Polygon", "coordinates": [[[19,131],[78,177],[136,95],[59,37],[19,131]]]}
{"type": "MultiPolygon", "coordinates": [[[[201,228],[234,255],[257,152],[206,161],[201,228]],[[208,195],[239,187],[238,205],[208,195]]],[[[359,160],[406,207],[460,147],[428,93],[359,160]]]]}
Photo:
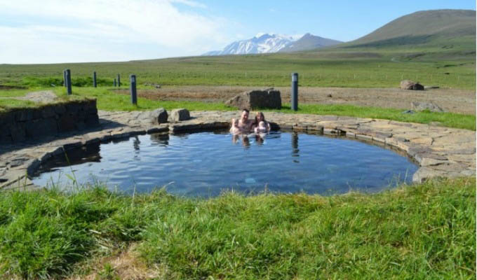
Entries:
{"type": "Polygon", "coordinates": [[[96,99],[48,104],[0,113],[0,143],[38,139],[99,125],[96,99]]]}

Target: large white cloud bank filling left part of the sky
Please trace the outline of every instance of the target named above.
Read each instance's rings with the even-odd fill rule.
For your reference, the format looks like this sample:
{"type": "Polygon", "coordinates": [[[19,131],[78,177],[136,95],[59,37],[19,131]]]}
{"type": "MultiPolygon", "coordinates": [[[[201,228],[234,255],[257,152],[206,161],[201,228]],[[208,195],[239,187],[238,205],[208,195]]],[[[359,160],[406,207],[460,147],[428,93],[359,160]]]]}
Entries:
{"type": "Polygon", "coordinates": [[[227,20],[184,12],[190,0],[0,0],[0,63],[88,62],[200,55],[221,48],[227,20]],[[34,24],[32,24],[32,20],[34,24]]]}

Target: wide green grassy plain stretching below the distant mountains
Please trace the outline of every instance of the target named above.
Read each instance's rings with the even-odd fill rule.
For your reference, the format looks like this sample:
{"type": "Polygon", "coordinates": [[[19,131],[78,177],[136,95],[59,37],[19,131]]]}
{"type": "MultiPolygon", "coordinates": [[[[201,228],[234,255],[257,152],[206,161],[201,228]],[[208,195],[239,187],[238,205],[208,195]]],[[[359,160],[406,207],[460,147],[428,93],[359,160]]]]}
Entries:
{"type": "MultiPolygon", "coordinates": [[[[112,85],[116,74],[128,84],[134,73],[140,85],[252,85],[288,86],[290,73],[300,73],[301,86],[398,87],[403,79],[424,85],[476,89],[475,43],[451,49],[429,46],[407,48],[332,48],[329,50],[238,55],[178,57],[133,62],[76,64],[0,64],[0,85],[50,87],[62,84],[62,71],[72,70],[75,86],[112,85]]],[[[462,43],[462,42],[457,42],[462,43]]]]}

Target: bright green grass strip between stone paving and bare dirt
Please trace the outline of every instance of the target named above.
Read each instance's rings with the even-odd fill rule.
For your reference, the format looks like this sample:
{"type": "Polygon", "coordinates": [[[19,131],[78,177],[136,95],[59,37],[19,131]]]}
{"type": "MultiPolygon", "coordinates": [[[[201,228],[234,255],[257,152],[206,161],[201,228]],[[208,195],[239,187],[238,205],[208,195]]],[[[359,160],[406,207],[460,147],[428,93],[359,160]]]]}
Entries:
{"type": "MultiPolygon", "coordinates": [[[[44,88],[43,88],[44,89],[44,88]]],[[[36,90],[43,90],[36,88],[36,90]]],[[[130,103],[130,97],[126,94],[116,94],[109,87],[74,87],[72,95],[67,95],[63,87],[56,87],[53,91],[60,97],[59,102],[68,100],[78,100],[83,98],[97,99],[99,110],[104,111],[136,111],[152,110],[163,107],[166,110],[186,108],[189,111],[218,110],[234,111],[235,108],[225,106],[222,103],[213,102],[187,102],[187,101],[156,101],[145,98],[138,98],[138,105],[130,103]]],[[[0,91],[0,111],[13,108],[31,108],[40,106],[33,102],[15,99],[1,99],[1,97],[15,97],[25,94],[25,90],[15,90],[12,93],[0,91]]],[[[276,111],[267,110],[263,111],[276,111]]],[[[462,128],[466,130],[476,130],[476,116],[459,113],[434,113],[422,111],[413,114],[404,114],[400,109],[384,109],[378,107],[363,107],[353,105],[330,105],[330,104],[302,104],[297,112],[292,111],[289,106],[283,106],[279,112],[283,113],[307,113],[317,115],[353,116],[356,118],[378,118],[384,120],[396,120],[407,123],[438,123],[444,127],[462,128]]]]}

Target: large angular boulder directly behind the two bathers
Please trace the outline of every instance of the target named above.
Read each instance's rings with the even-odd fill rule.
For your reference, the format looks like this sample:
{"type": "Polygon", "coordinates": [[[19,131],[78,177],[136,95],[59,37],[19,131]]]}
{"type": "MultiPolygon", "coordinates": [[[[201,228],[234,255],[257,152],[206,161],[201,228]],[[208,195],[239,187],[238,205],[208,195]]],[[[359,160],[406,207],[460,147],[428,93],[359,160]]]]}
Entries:
{"type": "Polygon", "coordinates": [[[267,90],[252,90],[243,92],[225,102],[228,106],[238,109],[281,109],[281,94],[279,90],[269,88],[267,90]]]}

